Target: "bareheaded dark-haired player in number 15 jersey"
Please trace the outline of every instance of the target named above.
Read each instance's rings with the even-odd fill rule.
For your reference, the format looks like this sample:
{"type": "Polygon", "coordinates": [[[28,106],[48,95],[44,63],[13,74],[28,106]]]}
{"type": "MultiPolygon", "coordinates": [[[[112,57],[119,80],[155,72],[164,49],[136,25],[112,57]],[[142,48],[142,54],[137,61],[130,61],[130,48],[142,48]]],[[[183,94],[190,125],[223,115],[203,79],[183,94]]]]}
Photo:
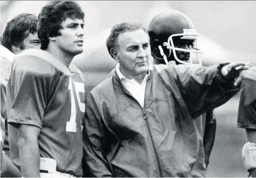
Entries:
{"type": "Polygon", "coordinates": [[[41,49],[15,56],[7,83],[8,133],[23,177],[83,176],[85,85],[71,64],[83,51],[83,28],[76,2],[50,1],[37,24],[41,49]]]}

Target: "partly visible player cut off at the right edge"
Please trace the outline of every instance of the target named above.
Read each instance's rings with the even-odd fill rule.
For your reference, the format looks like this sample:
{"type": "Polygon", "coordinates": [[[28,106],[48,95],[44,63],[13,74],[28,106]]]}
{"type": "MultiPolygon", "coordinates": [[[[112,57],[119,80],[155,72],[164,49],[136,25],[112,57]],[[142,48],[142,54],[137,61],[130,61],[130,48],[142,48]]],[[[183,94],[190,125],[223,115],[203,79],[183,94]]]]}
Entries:
{"type": "Polygon", "coordinates": [[[247,143],[242,148],[242,161],[245,169],[256,177],[256,68],[252,67],[244,73],[241,83],[241,95],[238,108],[238,127],[245,128],[247,143]]]}

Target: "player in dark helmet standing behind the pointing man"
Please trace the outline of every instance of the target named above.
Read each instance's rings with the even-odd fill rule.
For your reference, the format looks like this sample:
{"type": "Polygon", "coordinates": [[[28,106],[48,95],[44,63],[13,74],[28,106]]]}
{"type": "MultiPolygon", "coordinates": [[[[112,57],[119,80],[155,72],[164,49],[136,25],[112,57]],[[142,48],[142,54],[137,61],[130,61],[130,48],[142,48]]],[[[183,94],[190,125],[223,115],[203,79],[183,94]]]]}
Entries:
{"type": "MultiPolygon", "coordinates": [[[[202,63],[202,51],[196,48],[198,34],[187,15],[175,10],[164,11],[155,15],[149,21],[147,28],[154,58],[153,63],[168,64],[170,61],[176,64],[202,63]],[[191,54],[193,53],[196,54],[194,56],[197,60],[192,59],[191,54]]],[[[207,167],[216,132],[216,119],[213,110],[199,116],[194,121],[203,138],[207,167]]]]}

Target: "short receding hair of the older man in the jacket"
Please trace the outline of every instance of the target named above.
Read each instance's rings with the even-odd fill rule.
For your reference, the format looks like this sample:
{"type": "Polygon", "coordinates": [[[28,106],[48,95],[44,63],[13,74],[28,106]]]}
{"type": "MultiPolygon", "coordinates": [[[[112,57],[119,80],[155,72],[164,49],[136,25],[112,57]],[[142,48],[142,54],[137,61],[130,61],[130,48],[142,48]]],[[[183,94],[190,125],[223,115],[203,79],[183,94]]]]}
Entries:
{"type": "Polygon", "coordinates": [[[111,54],[111,49],[113,49],[114,51],[119,50],[118,37],[121,33],[124,33],[126,31],[136,31],[140,29],[145,31],[146,34],[148,34],[146,28],[138,22],[121,22],[119,24],[114,25],[106,41],[107,50],[108,53],[110,53],[111,57],[113,57],[113,55],[111,54]]]}

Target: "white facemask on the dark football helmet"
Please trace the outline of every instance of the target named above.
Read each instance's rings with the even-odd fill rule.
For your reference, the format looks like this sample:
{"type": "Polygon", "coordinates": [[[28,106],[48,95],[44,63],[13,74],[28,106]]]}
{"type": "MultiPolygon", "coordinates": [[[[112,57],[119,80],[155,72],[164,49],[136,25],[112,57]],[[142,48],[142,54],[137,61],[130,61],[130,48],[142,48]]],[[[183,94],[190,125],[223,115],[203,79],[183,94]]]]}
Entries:
{"type": "MultiPolygon", "coordinates": [[[[193,58],[196,56],[197,64],[202,63],[202,54],[203,51],[199,50],[197,48],[196,39],[198,34],[196,33],[196,30],[194,29],[184,29],[184,33],[181,34],[172,34],[169,36],[168,41],[164,42],[163,45],[166,46],[169,49],[168,57],[171,56],[173,51],[174,59],[181,64],[192,64],[193,58]],[[182,46],[187,45],[188,49],[181,48],[182,46]],[[175,47],[176,46],[176,47],[175,47]],[[188,60],[181,60],[178,59],[177,53],[178,51],[183,51],[189,53],[189,59],[188,60]],[[193,57],[192,57],[193,56],[193,57]]],[[[162,49],[162,46],[158,46],[160,53],[162,57],[164,57],[165,63],[168,64],[168,57],[164,54],[164,50],[162,49]]]]}

